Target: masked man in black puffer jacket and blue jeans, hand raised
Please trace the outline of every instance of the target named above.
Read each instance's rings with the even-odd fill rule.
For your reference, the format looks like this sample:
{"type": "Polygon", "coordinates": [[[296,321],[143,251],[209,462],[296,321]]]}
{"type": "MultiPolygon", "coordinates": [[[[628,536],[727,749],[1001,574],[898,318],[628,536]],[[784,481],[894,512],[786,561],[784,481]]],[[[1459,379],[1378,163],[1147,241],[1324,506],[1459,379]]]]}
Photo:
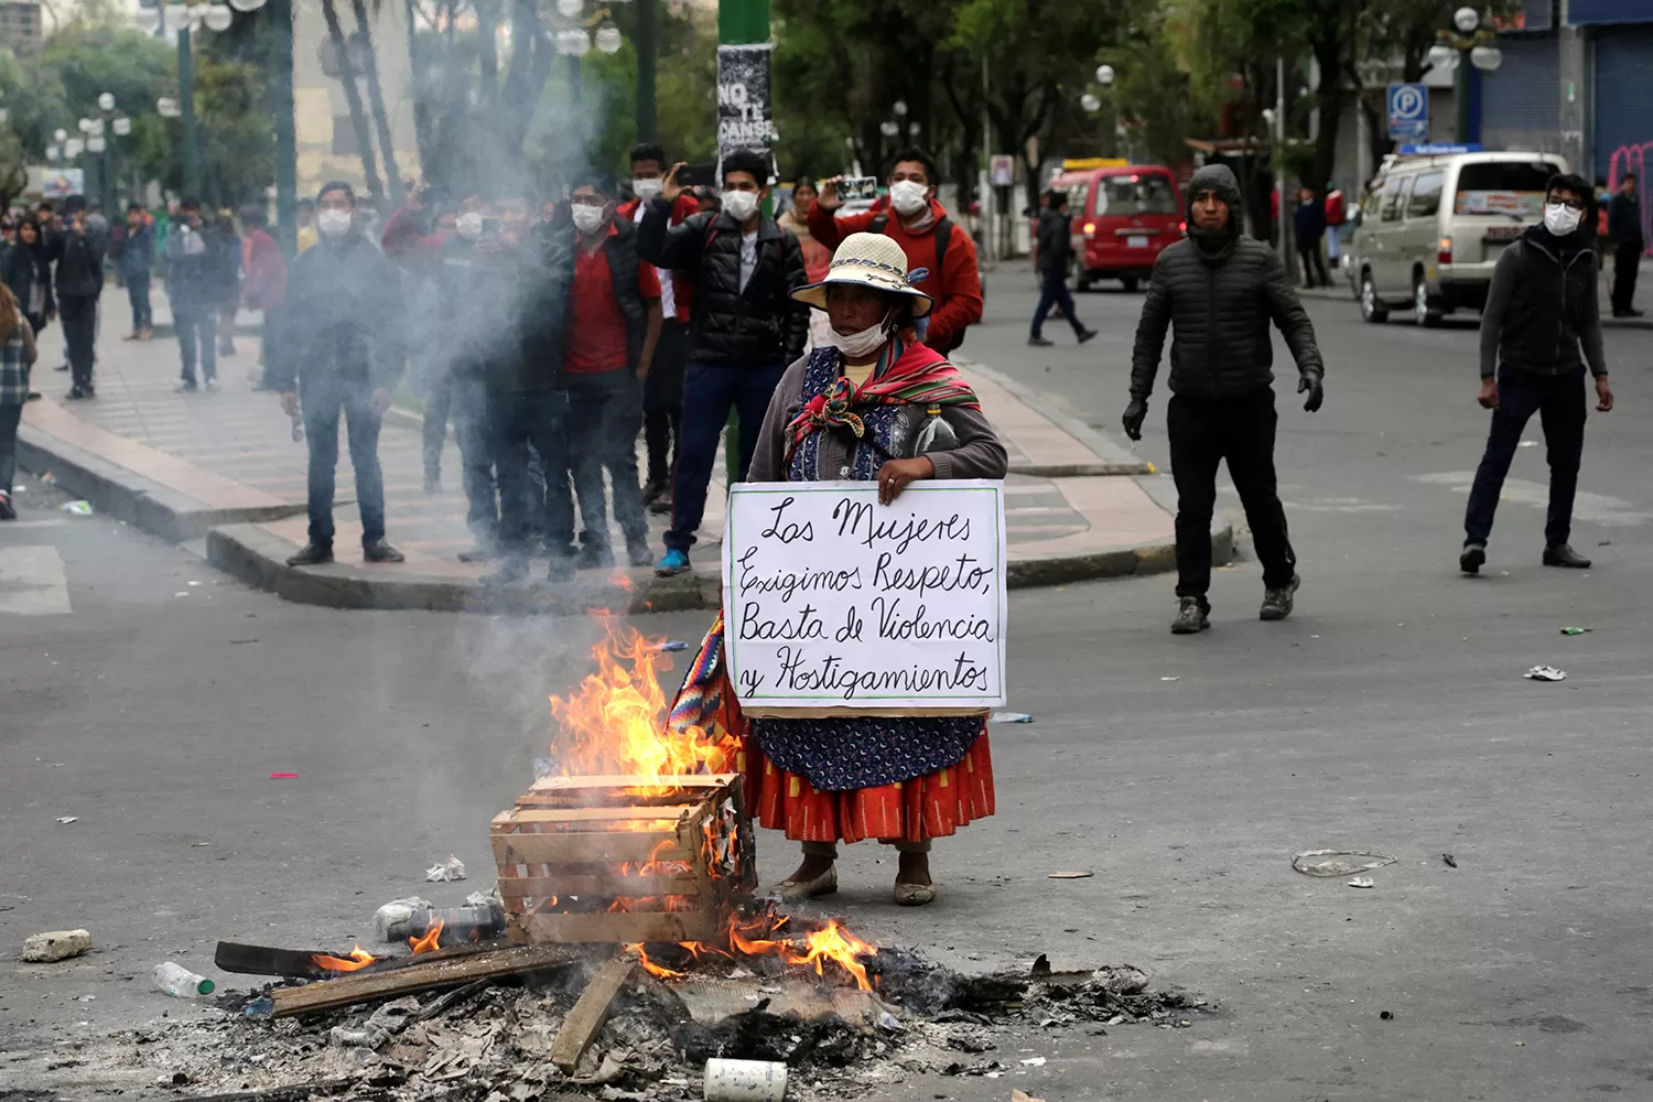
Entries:
{"type": "Polygon", "coordinates": [[[706,511],[706,486],[717,458],[717,435],[729,408],[741,416],[741,468],[752,463],[769,398],[780,375],[803,355],[808,307],[792,291],[808,283],[803,249],[759,210],[769,195],[769,160],[742,149],[724,157],[722,211],[706,211],[673,226],[683,193],[676,164],[648,203],[636,231],[636,254],[694,281],[689,362],[683,378],[678,466],[671,473],[671,530],[658,573],[689,568],[689,547],[706,511]]]}

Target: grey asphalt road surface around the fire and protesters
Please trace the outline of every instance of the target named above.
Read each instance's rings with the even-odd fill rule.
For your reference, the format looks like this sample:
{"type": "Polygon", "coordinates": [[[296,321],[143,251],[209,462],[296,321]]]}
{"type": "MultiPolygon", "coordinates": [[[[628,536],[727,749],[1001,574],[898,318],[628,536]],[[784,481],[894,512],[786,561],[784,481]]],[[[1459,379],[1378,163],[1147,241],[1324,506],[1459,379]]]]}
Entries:
{"type": "MultiPolygon", "coordinates": [[[[1081,297],[1104,335],[1046,354],[1025,347],[1031,283],[998,273],[992,294],[967,354],[1112,430],[1139,296],[1081,297]]],[[[1575,537],[1598,567],[1537,565],[1529,448],[1486,577],[1465,580],[1463,479],[1486,421],[1473,327],[1364,327],[1352,302],[1311,314],[1327,403],[1284,413],[1279,441],[1298,613],[1255,620],[1250,562],[1218,572],[1217,626],[1192,639],[1165,631],[1165,575],[1018,591],[1012,707],[1036,722],[993,729],[998,815],[937,846],[934,907],[894,909],[894,867],[866,846],[830,900],[865,935],[954,965],[1131,962],[1217,1013],[1051,1029],[995,1054],[1043,1067],[868,1097],[1653,1097],[1653,334],[1608,335],[1620,408],[1592,415],[1575,537]],[[1569,681],[1524,681],[1536,663],[1569,681]],[[1398,862],[1355,891],[1291,871],[1314,848],[1398,862]]],[[[1162,392],[1141,449],[1165,463],[1162,392]]],[[[149,988],[159,960],[200,968],[218,938],[367,945],[374,909],[425,889],[450,853],[474,879],[433,899],[486,886],[486,821],[524,788],[544,697],[587,672],[593,634],[284,605],[183,549],[71,519],[43,489],[0,525],[0,952],[76,925],[98,952],[0,960],[0,1097],[41,1082],[43,1046],[190,1013],[149,988]]],[[[689,641],[704,628],[638,623],[689,641]]],[[[784,843],[760,844],[765,876],[790,869],[784,843]]],[[[96,1097],[55,1076],[63,1097],[96,1097]]],[[[149,1081],[119,1085],[149,1097],[149,1081]]]]}

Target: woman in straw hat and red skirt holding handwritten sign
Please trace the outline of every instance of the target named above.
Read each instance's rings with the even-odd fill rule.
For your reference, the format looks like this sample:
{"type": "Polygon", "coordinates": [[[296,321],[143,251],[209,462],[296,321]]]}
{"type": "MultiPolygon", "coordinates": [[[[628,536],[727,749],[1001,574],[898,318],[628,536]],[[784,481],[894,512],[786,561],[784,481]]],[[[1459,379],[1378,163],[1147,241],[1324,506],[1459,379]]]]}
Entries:
{"type": "MultiPolygon", "coordinates": [[[[825,311],[828,344],[775,388],[750,481],[876,481],[888,506],[919,479],[1005,476],[1005,448],[975,393],[914,332],[932,302],[912,286],[906,263],[888,236],[856,233],[838,246],[823,281],[793,292],[825,311]]],[[[671,722],[744,730],[747,808],[803,844],[803,862],[779,886],[782,897],[836,891],[836,844],[873,838],[901,854],[896,902],[934,900],[931,839],[993,813],[987,717],[744,720],[721,674],[721,651],[719,618],[671,722]]]]}

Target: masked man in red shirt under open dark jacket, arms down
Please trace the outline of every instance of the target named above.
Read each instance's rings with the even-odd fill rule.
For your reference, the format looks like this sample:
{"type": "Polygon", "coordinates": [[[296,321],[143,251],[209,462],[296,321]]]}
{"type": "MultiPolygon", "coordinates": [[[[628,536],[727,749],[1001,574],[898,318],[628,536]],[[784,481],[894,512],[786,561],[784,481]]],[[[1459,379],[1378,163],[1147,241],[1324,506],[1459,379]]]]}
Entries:
{"type": "MultiPolygon", "coordinates": [[[[612,567],[603,469],[613,484],[615,520],[626,560],[648,567],[648,519],[636,484],[636,430],[643,385],[661,327],[661,286],[636,256],[636,230],[615,218],[615,190],[602,173],[582,177],[570,197],[574,279],[569,284],[567,344],[574,492],[585,545],[579,567],[612,567]]],[[[554,477],[552,471],[545,471],[554,477]]]]}

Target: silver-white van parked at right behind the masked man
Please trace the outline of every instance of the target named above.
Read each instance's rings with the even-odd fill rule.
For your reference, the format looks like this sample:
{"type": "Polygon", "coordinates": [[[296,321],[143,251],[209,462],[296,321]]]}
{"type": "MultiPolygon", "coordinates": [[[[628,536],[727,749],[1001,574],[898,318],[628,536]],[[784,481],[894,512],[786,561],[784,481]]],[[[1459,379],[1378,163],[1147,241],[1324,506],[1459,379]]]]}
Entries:
{"type": "Polygon", "coordinates": [[[1367,322],[1407,309],[1435,325],[1486,307],[1504,248],[1544,213],[1544,187],[1567,160],[1496,152],[1387,162],[1351,241],[1349,276],[1367,322]]]}

